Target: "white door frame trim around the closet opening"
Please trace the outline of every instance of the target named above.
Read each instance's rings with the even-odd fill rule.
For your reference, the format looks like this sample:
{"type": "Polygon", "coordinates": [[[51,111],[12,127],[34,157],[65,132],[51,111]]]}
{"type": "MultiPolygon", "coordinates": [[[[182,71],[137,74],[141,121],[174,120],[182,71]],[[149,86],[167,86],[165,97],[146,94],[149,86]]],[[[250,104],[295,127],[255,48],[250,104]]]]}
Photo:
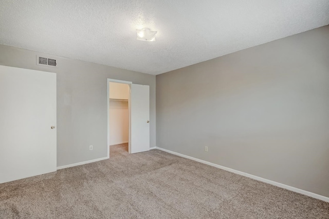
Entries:
{"type": "Polygon", "coordinates": [[[107,78],[107,157],[109,158],[109,82],[121,83],[129,85],[128,111],[129,111],[129,138],[128,138],[128,153],[131,153],[131,84],[133,82],[121,81],[117,79],[107,78]]]}

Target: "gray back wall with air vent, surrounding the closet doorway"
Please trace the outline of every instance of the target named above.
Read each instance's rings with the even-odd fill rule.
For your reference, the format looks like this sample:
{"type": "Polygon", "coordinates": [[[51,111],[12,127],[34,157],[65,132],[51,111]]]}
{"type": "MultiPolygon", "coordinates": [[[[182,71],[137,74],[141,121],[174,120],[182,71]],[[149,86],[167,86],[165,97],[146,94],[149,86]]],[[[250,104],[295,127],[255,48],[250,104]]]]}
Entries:
{"type": "Polygon", "coordinates": [[[150,86],[150,146],[155,146],[154,75],[63,57],[57,58],[59,68],[37,66],[36,54],[42,53],[0,45],[0,65],[57,73],[57,166],[107,156],[106,78],[150,86]]]}

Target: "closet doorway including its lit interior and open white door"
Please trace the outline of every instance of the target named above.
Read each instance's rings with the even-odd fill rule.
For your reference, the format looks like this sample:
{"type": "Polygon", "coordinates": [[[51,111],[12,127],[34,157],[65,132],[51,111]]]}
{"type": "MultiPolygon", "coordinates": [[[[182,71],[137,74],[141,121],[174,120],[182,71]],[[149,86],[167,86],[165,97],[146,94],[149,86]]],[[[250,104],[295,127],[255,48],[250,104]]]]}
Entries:
{"type": "Polygon", "coordinates": [[[125,144],[128,153],[150,150],[150,86],[107,79],[107,154],[125,144]]]}

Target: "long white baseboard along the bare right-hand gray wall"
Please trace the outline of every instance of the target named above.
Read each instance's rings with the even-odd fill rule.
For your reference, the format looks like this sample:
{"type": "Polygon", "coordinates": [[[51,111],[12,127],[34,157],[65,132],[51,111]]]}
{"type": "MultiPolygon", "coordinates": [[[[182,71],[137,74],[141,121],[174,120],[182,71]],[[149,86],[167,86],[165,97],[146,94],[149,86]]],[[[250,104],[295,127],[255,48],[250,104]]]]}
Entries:
{"type": "Polygon", "coordinates": [[[307,196],[310,196],[310,197],[318,198],[319,200],[322,200],[324,202],[329,202],[329,197],[326,197],[326,196],[323,196],[323,195],[319,195],[319,194],[316,194],[316,193],[313,193],[313,192],[308,192],[308,191],[298,189],[298,188],[295,188],[295,187],[292,187],[292,186],[288,186],[288,185],[285,185],[285,184],[282,184],[282,183],[278,183],[278,182],[275,182],[275,181],[267,180],[266,178],[251,175],[249,173],[245,173],[245,172],[242,172],[242,171],[239,171],[239,170],[234,170],[234,169],[224,167],[224,166],[221,166],[221,165],[218,165],[218,164],[213,164],[213,163],[210,163],[208,161],[200,160],[198,158],[195,158],[195,157],[192,157],[192,156],[187,156],[187,155],[184,155],[184,154],[180,154],[180,153],[170,151],[170,150],[167,150],[167,149],[163,149],[163,148],[159,148],[159,147],[155,147],[155,148],[159,149],[161,151],[166,151],[168,153],[175,154],[177,156],[188,158],[190,160],[193,160],[193,161],[196,161],[196,162],[199,162],[199,163],[207,164],[209,166],[217,167],[217,168],[220,168],[220,169],[232,172],[232,173],[236,173],[236,174],[243,175],[243,176],[246,176],[246,177],[249,177],[249,178],[253,178],[254,180],[258,180],[258,181],[261,181],[261,182],[264,182],[264,183],[268,183],[268,184],[271,184],[271,185],[274,185],[274,186],[278,186],[280,188],[284,188],[284,189],[294,191],[294,192],[297,192],[297,193],[300,193],[300,194],[304,194],[304,195],[307,195],[307,196]]]}

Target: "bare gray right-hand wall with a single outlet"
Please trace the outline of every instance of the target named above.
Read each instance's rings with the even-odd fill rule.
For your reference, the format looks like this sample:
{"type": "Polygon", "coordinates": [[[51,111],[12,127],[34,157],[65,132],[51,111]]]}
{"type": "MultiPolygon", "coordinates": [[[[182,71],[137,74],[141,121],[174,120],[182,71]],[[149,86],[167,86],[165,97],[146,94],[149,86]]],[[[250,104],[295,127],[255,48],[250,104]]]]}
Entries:
{"type": "Polygon", "coordinates": [[[158,147],[329,196],[329,26],[157,75],[156,100],[158,147]]]}

